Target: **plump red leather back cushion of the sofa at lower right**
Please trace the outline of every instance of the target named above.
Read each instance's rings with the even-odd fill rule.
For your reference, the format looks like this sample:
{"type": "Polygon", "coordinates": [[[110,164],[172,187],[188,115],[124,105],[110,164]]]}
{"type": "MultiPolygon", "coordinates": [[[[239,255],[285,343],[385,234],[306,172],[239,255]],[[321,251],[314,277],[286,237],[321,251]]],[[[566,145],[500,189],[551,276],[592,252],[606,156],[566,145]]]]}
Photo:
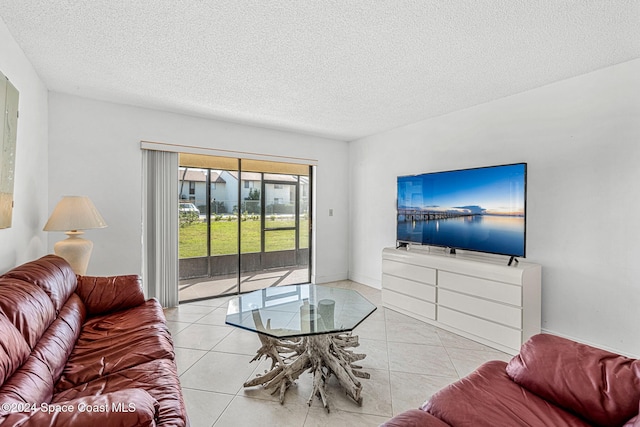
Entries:
{"type": "Polygon", "coordinates": [[[507,365],[520,386],[592,424],[620,426],[638,413],[640,361],[553,335],[535,335],[507,365]]]}

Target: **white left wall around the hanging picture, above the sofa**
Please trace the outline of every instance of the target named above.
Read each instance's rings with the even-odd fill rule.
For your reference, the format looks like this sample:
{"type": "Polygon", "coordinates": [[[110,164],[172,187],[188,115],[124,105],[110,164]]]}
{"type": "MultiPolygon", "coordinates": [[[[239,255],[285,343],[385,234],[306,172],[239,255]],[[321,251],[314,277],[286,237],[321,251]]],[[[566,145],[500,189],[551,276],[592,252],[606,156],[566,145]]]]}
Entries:
{"type": "MultiPolygon", "coordinates": [[[[14,209],[0,230],[0,273],[46,254],[47,88],[0,19],[0,71],[20,92],[14,209]]],[[[4,120],[4,119],[3,119],[4,120]]]]}

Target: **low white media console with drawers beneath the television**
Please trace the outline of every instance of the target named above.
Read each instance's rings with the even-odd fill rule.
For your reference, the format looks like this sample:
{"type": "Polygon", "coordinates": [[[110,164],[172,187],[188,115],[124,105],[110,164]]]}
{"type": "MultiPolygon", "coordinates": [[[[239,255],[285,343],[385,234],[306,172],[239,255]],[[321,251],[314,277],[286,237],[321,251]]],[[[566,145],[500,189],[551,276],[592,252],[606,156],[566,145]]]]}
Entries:
{"type": "Polygon", "coordinates": [[[509,354],[540,333],[542,268],[494,257],[385,248],[383,306],[509,354]]]}

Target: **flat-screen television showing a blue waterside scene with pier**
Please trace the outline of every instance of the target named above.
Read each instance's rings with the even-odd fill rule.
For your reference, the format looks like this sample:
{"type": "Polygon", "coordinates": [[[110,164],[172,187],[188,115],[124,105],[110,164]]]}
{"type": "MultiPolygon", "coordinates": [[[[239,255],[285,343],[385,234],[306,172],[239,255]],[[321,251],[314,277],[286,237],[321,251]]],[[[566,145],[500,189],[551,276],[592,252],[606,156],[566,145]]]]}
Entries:
{"type": "Polygon", "coordinates": [[[524,257],[527,164],[398,177],[397,240],[524,257]]]}

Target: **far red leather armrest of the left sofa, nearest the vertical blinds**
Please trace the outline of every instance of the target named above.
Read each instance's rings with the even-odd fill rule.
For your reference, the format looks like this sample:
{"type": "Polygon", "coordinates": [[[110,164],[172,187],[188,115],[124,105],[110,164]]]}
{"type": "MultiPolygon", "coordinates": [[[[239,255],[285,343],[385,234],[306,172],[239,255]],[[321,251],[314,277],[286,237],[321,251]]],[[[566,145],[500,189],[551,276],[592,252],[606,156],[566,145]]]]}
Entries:
{"type": "Polygon", "coordinates": [[[143,304],[140,276],[78,276],[76,293],[90,315],[110,313],[143,304]]]}

